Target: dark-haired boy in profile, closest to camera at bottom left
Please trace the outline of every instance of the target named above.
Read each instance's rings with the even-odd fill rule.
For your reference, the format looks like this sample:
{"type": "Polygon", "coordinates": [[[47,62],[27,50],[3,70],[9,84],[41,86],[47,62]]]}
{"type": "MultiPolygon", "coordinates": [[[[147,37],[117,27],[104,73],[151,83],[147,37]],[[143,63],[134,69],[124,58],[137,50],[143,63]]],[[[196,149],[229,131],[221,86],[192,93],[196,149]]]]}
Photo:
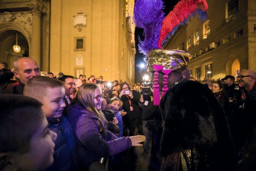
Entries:
{"type": "Polygon", "coordinates": [[[0,95],[0,170],[44,170],[53,162],[57,135],[42,104],[22,95],[0,95]]]}

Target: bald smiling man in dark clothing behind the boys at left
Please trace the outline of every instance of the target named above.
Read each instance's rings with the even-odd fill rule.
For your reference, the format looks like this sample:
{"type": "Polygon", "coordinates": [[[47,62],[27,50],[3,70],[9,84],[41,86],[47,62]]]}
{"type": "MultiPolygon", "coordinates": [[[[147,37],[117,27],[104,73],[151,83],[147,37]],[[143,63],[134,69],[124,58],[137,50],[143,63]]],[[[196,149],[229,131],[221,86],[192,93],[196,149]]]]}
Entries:
{"type": "MultiPolygon", "coordinates": [[[[13,74],[19,78],[19,84],[3,90],[4,94],[20,94],[23,95],[23,89],[29,79],[40,75],[40,69],[34,59],[23,57],[13,62],[13,74]]],[[[10,73],[11,74],[11,73],[10,73]]]]}

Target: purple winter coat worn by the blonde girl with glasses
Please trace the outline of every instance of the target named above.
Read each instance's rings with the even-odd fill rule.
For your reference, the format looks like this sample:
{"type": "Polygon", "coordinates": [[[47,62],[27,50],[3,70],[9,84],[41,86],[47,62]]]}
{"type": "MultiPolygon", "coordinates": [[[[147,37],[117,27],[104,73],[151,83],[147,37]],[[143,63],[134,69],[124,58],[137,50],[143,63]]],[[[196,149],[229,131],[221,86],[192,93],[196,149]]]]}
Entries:
{"type": "MultiPolygon", "coordinates": [[[[132,147],[130,137],[120,137],[106,141],[107,137],[100,134],[97,117],[79,103],[75,103],[69,107],[67,119],[73,128],[76,138],[80,161],[79,167],[81,169],[88,169],[92,162],[99,161],[101,157],[113,156],[132,147]]],[[[105,122],[103,123],[105,130],[107,130],[105,122]]],[[[110,131],[107,132],[107,135],[111,134],[113,133],[110,131]]]]}

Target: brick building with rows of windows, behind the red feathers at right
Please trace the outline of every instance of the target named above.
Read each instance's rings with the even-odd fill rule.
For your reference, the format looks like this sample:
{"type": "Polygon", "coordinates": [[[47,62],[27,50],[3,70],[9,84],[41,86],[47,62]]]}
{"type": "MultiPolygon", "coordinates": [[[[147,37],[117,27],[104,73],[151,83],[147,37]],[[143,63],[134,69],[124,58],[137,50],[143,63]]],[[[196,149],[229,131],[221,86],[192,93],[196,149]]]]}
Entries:
{"type": "Polygon", "coordinates": [[[192,18],[165,43],[193,55],[188,68],[197,80],[256,71],[256,1],[209,0],[208,20],[192,18]]]}

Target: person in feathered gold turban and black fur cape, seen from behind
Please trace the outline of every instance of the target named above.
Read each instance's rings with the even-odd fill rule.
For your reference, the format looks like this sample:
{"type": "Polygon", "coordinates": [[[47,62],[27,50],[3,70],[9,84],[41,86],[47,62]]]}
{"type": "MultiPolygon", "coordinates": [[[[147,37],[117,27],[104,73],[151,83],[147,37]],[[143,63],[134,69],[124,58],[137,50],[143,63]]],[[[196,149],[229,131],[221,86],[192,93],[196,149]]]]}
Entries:
{"type": "Polygon", "coordinates": [[[154,105],[160,104],[162,113],[163,170],[233,170],[236,162],[228,123],[216,98],[203,84],[182,79],[191,55],[162,48],[191,16],[207,18],[207,8],[205,0],[181,0],[164,17],[161,0],[135,2],[134,21],[145,35],[139,50],[154,79],[154,105]]]}

